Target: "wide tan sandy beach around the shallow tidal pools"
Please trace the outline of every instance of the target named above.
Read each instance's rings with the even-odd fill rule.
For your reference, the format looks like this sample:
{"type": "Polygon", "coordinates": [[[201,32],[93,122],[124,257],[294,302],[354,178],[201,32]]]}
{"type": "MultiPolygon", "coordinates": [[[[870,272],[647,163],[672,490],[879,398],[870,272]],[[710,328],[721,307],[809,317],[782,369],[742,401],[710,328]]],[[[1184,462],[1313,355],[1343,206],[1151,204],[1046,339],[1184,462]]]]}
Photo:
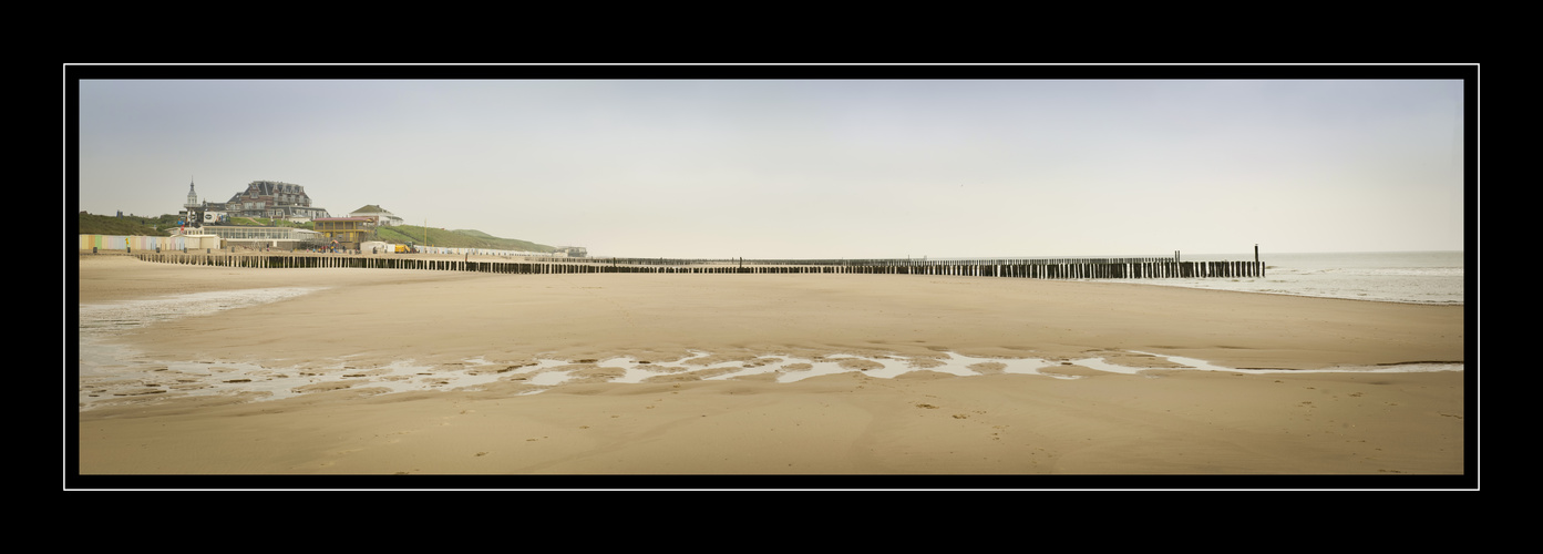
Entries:
{"type": "MultiPolygon", "coordinates": [[[[66,282],[68,287],[68,282],[66,282]]],[[[116,335],[140,360],[312,373],[261,400],[176,392],[79,410],[82,475],[1463,475],[1464,307],[1006,278],[480,275],[79,256],[79,301],[318,287],[116,335]],[[710,380],[696,353],[778,367],[710,380]],[[1060,377],[927,370],[949,353],[1060,377]],[[779,383],[793,360],[909,364],[779,383]],[[605,383],[606,360],[670,369],[605,383]],[[1102,358],[1145,372],[1083,367],[1102,358]],[[1187,369],[1168,356],[1244,373],[1187,369]],[[383,394],[410,360],[503,372],[383,394]],[[537,360],[579,375],[532,383],[537,360]],[[356,375],[356,377],[343,377],[356,375]],[[535,392],[535,394],[532,394],[535,392]]],[[[66,306],[68,309],[68,306],[66,306]]],[[[68,329],[66,329],[68,332],[68,329]]],[[[73,363],[66,352],[66,364],[73,363]]],[[[432,372],[432,370],[430,370],[432,372]]],[[[66,460],[68,461],[68,460],[66,460]]]]}

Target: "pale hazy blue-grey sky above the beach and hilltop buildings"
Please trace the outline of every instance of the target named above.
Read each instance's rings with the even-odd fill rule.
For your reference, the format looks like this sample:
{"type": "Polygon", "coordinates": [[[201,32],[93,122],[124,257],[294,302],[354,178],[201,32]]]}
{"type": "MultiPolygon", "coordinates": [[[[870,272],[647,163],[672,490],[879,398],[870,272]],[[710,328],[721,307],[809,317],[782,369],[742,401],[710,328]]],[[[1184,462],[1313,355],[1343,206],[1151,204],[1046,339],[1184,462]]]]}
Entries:
{"type": "Polygon", "coordinates": [[[236,74],[79,80],[79,210],[157,216],[190,182],[224,202],[282,181],[333,216],[376,204],[593,256],[1464,247],[1446,77],[236,74]]]}

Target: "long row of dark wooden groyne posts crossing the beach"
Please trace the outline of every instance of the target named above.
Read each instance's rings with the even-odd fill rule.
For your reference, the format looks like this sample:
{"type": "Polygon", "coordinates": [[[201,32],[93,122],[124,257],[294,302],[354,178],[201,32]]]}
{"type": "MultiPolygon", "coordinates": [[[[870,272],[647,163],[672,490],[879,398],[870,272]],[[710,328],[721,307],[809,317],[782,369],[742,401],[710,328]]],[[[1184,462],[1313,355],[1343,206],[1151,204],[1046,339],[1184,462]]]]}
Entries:
{"type": "Polygon", "coordinates": [[[943,275],[943,276],[1003,276],[1031,279],[1168,279],[1168,278],[1262,278],[1265,265],[1261,261],[841,261],[810,262],[782,261],[770,264],[734,262],[688,262],[660,264],[622,262],[619,259],[582,258],[568,261],[472,261],[451,258],[426,258],[414,255],[322,255],[322,253],[184,253],[184,252],[137,252],[133,256],[167,264],[222,265],[222,267],[356,267],[356,269],[404,269],[478,272],[511,275],[545,273],[876,273],[876,275],[943,275]]]}

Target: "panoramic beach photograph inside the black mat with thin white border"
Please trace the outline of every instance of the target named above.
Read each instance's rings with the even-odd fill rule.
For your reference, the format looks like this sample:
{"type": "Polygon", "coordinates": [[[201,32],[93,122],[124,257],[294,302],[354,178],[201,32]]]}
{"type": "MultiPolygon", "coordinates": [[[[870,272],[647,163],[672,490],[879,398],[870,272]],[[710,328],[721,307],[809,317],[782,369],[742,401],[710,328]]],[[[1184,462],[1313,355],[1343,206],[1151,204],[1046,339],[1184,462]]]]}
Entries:
{"type": "Polygon", "coordinates": [[[214,69],[66,66],[66,489],[1477,488],[1477,66],[214,69]]]}

